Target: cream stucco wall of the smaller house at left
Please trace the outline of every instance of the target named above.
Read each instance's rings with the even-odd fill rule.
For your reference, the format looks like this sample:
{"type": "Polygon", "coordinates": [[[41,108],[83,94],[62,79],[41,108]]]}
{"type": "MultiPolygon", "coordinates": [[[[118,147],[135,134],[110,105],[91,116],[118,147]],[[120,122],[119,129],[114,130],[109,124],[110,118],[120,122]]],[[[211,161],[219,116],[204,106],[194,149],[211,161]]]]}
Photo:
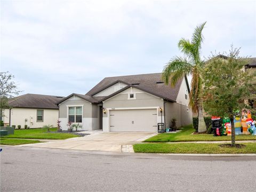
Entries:
{"type": "MultiPolygon", "coordinates": [[[[44,125],[53,125],[57,127],[57,119],[59,118],[59,109],[39,109],[44,110],[43,122],[36,121],[37,109],[33,108],[12,108],[11,109],[11,125],[21,125],[21,129],[25,127],[25,119],[27,119],[26,125],[30,128],[39,128],[44,125]]],[[[4,123],[9,124],[10,113],[9,109],[4,111],[4,123]]]]}

